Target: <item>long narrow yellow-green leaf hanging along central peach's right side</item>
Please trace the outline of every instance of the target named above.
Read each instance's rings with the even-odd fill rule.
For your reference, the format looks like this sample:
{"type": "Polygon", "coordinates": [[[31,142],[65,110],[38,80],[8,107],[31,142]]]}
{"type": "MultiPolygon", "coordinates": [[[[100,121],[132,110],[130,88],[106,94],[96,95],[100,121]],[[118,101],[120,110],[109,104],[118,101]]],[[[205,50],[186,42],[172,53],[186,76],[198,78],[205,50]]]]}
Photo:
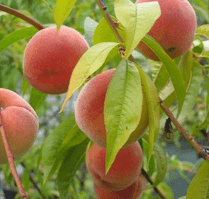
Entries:
{"type": "Polygon", "coordinates": [[[144,136],[147,138],[147,142],[149,144],[149,155],[147,157],[149,162],[154,148],[155,139],[157,138],[160,130],[160,105],[158,102],[158,92],[155,84],[138,65],[136,65],[136,67],[140,73],[141,82],[146,94],[149,113],[149,134],[148,137],[146,137],[146,135],[144,136]]]}

